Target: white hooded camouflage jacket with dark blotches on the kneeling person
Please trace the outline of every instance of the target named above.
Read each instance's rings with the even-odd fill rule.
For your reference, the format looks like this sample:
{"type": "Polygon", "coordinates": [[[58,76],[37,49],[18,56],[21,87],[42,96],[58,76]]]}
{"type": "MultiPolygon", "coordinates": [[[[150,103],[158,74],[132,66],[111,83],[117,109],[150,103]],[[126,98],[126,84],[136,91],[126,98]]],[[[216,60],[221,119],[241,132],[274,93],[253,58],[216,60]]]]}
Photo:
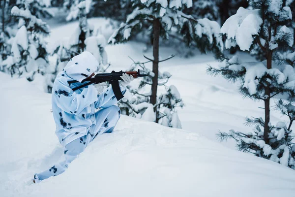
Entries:
{"type": "MultiPolygon", "coordinates": [[[[95,72],[97,67],[95,57],[89,52],[83,52],[73,57],[57,75],[52,91],[52,110],[56,134],[63,146],[86,135],[90,127],[96,124],[95,109],[106,108],[118,102],[111,86],[100,95],[92,84],[72,91],[82,85],[83,79],[95,72]],[[68,81],[71,80],[79,83],[69,85],[68,81]]],[[[120,86],[120,89],[124,95],[125,87],[120,86]]]]}

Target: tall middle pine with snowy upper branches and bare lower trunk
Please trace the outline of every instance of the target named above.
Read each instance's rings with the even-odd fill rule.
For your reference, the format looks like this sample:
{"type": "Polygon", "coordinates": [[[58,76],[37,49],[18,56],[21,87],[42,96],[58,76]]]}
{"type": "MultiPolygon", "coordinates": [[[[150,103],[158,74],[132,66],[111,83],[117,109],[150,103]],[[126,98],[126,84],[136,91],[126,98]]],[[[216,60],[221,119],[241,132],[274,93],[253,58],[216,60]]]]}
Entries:
{"type": "MultiPolygon", "coordinates": [[[[192,6],[192,0],[133,0],[133,11],[128,15],[125,23],[120,25],[109,39],[109,43],[121,43],[141,32],[148,36],[152,43],[153,58],[146,57],[152,62],[152,78],[148,85],[151,91],[146,98],[157,111],[159,97],[157,90],[161,75],[159,74],[159,43],[160,38],[169,39],[169,33],[179,35],[190,46],[194,44],[202,52],[219,50],[222,40],[219,37],[220,27],[217,22],[207,18],[194,19],[182,10],[192,6]]],[[[147,108],[148,109],[148,108],[147,108]]],[[[155,113],[155,122],[160,120],[159,113],[155,113]]]]}

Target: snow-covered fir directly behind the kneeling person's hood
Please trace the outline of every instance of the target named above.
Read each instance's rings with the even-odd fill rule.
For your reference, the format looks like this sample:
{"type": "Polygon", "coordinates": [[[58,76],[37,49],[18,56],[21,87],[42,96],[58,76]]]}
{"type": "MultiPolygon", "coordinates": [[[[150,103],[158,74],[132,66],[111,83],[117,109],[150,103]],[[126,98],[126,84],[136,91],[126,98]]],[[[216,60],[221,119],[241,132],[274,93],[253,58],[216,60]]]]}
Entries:
{"type": "Polygon", "coordinates": [[[93,25],[87,21],[87,1],[80,1],[78,5],[79,26],[74,30],[69,39],[60,40],[52,54],[56,57],[55,68],[47,76],[47,90],[51,93],[56,75],[66,66],[74,56],[89,51],[99,63],[98,72],[104,72],[108,63],[105,46],[107,41],[101,31],[94,32],[93,25]]]}

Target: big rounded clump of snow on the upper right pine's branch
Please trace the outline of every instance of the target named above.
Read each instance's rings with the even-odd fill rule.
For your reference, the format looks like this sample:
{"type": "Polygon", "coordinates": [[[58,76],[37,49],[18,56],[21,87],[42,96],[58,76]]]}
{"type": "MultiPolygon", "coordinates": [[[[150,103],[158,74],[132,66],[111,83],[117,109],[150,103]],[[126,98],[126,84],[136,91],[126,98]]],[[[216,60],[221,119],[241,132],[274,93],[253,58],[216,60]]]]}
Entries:
{"type": "Polygon", "coordinates": [[[227,36],[226,48],[235,46],[235,42],[231,40],[236,40],[236,45],[242,51],[249,50],[254,41],[253,35],[259,33],[262,22],[258,9],[247,10],[240,7],[221,27],[221,33],[227,36]]]}

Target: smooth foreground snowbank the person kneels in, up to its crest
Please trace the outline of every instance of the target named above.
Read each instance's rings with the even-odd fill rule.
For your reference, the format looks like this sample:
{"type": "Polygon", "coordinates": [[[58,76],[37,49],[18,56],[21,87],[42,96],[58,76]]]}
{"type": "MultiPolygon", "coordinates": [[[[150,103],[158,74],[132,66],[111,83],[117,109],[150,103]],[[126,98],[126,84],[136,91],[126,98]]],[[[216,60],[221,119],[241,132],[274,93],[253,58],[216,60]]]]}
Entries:
{"type": "Polygon", "coordinates": [[[2,196],[276,197],[295,192],[295,172],[281,164],[228,149],[198,132],[123,115],[113,133],[91,142],[63,174],[28,186],[33,173],[63,154],[51,95],[39,90],[40,79],[29,83],[0,73],[5,83],[0,87],[2,196]],[[26,104],[15,105],[21,102],[26,104]]]}

